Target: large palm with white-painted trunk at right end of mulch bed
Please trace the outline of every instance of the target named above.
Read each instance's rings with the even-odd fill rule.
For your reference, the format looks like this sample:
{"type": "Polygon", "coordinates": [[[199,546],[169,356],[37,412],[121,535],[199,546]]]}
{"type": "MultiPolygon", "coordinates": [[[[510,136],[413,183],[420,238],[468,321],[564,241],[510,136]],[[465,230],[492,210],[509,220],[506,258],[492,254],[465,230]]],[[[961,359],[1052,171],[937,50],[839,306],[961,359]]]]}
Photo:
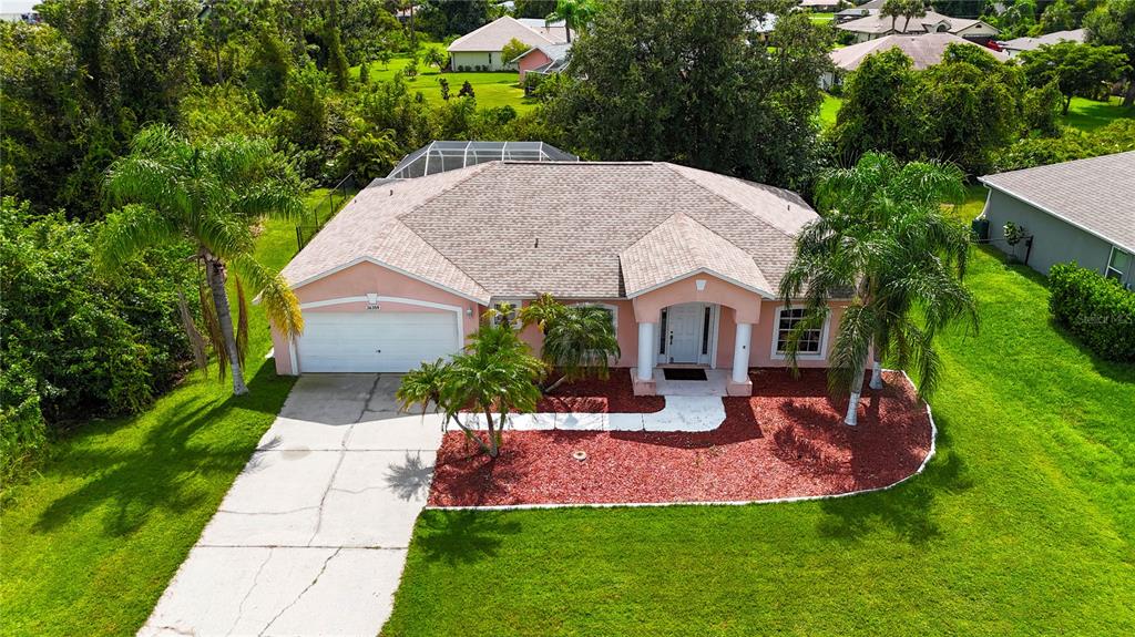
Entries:
{"type": "Polygon", "coordinates": [[[785,305],[804,299],[805,318],[788,338],[794,368],[801,337],[827,318],[827,300],[851,295],[829,368],[830,390],[851,394],[846,424],[856,424],[868,351],[874,353],[872,389],[883,387],[886,358],[910,368],[919,396],[927,397],[942,373],[934,336],[958,320],[976,330],[974,298],[961,282],[968,230],[941,209],[962,195],[956,167],[900,164],[876,153],[821,178],[816,203],[823,216],[797,237],[780,296],[785,305]]]}

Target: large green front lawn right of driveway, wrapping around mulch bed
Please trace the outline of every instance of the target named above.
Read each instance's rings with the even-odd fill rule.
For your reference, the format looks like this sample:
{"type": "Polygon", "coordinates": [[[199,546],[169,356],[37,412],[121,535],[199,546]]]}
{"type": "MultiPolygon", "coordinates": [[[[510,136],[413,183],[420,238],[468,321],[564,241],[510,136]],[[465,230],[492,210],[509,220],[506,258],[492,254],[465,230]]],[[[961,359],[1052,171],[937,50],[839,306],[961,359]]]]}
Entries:
{"type": "Polygon", "coordinates": [[[923,476],[794,504],[428,511],[385,634],[1135,634],[1135,367],[1056,329],[1044,279],[995,254],[968,275],[980,336],[941,339],[923,476]]]}

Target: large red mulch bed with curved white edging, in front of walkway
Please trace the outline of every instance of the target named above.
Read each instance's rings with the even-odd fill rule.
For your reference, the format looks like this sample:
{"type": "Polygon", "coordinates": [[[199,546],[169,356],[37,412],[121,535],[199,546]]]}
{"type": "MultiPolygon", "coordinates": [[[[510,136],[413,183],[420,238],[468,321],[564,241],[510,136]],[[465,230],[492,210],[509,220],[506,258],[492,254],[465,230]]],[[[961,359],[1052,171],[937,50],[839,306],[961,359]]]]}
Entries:
{"type": "MultiPolygon", "coordinates": [[[[501,456],[445,435],[429,504],[585,504],[766,500],[886,486],[930,452],[926,408],[901,374],[864,391],[859,426],[827,397],[822,370],[792,379],[750,374],[755,396],[725,398],[726,419],[705,433],[505,432],[501,456]],[[575,450],[587,460],[572,459],[575,450]]],[[[614,374],[613,374],[614,377],[614,374]]],[[[630,384],[628,374],[628,385],[630,384]]],[[[612,409],[617,410],[617,409],[612,409]]]]}

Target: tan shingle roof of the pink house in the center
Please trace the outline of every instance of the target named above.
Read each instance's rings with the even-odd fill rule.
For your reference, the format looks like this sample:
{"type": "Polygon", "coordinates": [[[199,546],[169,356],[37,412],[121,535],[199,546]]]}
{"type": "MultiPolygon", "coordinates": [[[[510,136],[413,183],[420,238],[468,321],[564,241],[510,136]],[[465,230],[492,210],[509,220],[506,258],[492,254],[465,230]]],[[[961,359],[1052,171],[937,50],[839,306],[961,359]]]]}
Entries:
{"type": "Polygon", "coordinates": [[[766,296],[816,213],[796,193],[662,162],[490,162],[376,180],[284,269],[371,261],[476,300],[625,298],[713,272],[766,296]]]}

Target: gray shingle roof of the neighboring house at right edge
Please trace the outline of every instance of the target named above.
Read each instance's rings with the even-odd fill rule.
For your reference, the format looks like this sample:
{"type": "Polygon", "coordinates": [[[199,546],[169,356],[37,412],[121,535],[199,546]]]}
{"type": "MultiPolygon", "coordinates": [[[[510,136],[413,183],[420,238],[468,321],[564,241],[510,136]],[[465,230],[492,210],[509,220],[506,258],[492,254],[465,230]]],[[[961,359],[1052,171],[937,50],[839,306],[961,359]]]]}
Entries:
{"type": "Polygon", "coordinates": [[[1135,252],[1135,151],[986,175],[981,181],[1135,252]]]}

